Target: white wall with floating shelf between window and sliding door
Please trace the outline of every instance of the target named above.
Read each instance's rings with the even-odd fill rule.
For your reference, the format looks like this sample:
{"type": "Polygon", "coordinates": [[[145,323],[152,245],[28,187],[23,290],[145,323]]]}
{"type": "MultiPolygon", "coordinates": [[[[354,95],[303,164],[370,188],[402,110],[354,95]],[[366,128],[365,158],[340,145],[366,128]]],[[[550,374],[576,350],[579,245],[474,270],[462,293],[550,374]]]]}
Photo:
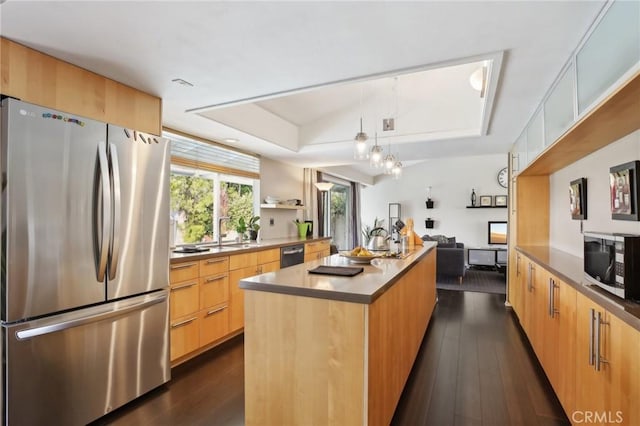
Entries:
{"type": "MultiPolygon", "coordinates": [[[[302,199],[303,169],[269,158],[260,158],[260,200],[267,195],[283,200],[302,199]]],[[[295,219],[302,220],[301,210],[260,209],[260,235],[262,239],[295,237],[298,230],[295,219]],[[269,225],[273,218],[274,225],[269,225]]]]}

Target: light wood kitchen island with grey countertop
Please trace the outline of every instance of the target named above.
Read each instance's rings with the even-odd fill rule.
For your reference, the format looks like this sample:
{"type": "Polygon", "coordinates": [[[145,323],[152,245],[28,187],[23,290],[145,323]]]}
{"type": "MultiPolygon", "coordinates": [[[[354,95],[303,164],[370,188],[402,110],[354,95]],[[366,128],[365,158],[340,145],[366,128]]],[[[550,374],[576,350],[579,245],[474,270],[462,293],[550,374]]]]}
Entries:
{"type": "Polygon", "coordinates": [[[370,265],[333,255],[241,280],[246,424],[388,425],[435,306],[434,247],[370,265]],[[320,265],[364,271],[308,272],[320,265]]]}

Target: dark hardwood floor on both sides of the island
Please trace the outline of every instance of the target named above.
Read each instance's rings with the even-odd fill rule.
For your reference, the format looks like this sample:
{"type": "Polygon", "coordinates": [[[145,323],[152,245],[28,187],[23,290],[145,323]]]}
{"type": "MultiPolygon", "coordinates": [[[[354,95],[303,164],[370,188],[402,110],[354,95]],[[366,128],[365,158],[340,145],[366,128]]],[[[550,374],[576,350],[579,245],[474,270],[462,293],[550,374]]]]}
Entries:
{"type": "MultiPolygon", "coordinates": [[[[438,290],[393,425],[568,425],[504,295],[438,290]]],[[[244,424],[243,340],[178,366],[172,381],[95,425],[244,424]]]]}

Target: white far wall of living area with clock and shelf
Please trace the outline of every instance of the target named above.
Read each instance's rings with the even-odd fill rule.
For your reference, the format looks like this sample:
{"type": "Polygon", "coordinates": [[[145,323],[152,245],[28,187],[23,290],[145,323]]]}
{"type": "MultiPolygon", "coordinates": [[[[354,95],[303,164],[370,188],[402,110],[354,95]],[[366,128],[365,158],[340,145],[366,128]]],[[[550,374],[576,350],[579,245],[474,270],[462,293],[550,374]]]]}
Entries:
{"type": "Polygon", "coordinates": [[[388,204],[400,203],[402,218],[413,218],[414,230],[424,234],[456,237],[465,247],[487,246],[487,221],[507,220],[507,209],[467,209],[471,189],[478,195],[506,195],[497,175],[507,166],[507,154],[440,158],[406,167],[399,180],[384,176],[371,187],[362,189],[362,224],[372,225],[375,217],[385,219],[388,228],[388,204]],[[427,209],[427,187],[431,186],[433,209],[427,209]],[[427,217],[435,220],[426,229],[427,217]]]}

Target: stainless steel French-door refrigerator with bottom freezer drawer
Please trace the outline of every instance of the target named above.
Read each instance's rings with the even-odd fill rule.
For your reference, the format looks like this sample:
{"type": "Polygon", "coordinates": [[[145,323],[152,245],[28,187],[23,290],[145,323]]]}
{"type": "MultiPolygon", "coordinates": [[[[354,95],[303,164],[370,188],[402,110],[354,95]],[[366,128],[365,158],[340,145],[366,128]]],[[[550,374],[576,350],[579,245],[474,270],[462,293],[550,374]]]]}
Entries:
{"type": "Polygon", "coordinates": [[[86,424],[170,378],[169,143],[0,117],[3,423],[86,424]]]}

